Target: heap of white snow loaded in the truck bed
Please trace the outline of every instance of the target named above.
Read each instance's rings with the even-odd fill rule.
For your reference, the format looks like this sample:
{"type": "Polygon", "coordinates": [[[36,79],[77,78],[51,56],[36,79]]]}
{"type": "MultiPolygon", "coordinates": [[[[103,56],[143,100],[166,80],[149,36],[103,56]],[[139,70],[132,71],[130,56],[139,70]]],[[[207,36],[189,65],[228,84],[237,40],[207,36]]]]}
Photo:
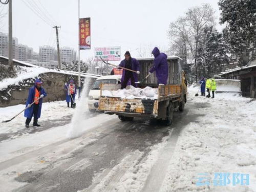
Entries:
{"type": "Polygon", "coordinates": [[[120,97],[125,99],[157,99],[158,98],[158,89],[146,87],[144,89],[135,88],[130,86],[130,89],[119,89],[116,91],[103,90],[102,96],[106,97],[120,97]]]}

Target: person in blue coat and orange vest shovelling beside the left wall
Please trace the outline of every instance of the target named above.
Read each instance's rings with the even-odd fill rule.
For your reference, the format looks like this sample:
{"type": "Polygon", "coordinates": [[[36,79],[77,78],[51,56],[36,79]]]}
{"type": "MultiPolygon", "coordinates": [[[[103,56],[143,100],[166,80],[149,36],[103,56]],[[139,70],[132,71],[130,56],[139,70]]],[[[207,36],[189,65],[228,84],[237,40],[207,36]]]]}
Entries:
{"type": "Polygon", "coordinates": [[[26,119],[26,127],[29,127],[29,123],[34,116],[33,126],[40,126],[37,123],[38,118],[41,116],[41,108],[42,108],[42,98],[46,97],[46,92],[44,88],[41,86],[42,82],[39,79],[36,79],[35,85],[29,89],[29,95],[26,102],[26,107],[30,106],[25,110],[24,116],[26,119]],[[35,102],[34,102],[35,101],[35,102]],[[31,105],[31,103],[33,103],[31,105]]]}

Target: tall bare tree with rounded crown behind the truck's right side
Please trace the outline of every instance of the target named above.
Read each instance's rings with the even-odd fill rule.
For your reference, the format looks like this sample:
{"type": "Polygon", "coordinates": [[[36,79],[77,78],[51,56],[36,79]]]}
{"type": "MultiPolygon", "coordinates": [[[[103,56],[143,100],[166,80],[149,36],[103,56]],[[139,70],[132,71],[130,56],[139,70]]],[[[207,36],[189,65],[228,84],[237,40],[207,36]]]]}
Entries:
{"type": "MultiPolygon", "coordinates": [[[[206,26],[215,26],[215,11],[209,4],[202,4],[188,9],[185,16],[180,17],[176,22],[170,23],[168,36],[171,39],[172,48],[182,42],[182,53],[185,54],[185,63],[189,53],[195,60],[195,76],[197,78],[197,59],[199,39],[206,26]]],[[[183,57],[184,58],[184,57],[183,57]]]]}

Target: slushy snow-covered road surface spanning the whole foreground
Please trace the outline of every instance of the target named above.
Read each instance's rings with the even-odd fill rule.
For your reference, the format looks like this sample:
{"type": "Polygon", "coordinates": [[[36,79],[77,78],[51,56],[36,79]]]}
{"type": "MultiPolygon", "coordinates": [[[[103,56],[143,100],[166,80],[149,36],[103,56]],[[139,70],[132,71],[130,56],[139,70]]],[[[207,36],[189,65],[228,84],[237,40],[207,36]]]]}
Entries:
{"type": "MultiPolygon", "coordinates": [[[[73,109],[61,101],[43,106],[42,131],[22,131],[22,116],[2,123],[1,134],[12,136],[0,142],[0,191],[256,191],[256,101],[196,91],[170,127],[86,112],[83,134],[69,139],[73,109]],[[200,173],[209,185],[196,185],[200,173]],[[215,173],[249,174],[250,182],[214,186],[215,173]]],[[[0,108],[3,119],[11,108],[0,108]]]]}

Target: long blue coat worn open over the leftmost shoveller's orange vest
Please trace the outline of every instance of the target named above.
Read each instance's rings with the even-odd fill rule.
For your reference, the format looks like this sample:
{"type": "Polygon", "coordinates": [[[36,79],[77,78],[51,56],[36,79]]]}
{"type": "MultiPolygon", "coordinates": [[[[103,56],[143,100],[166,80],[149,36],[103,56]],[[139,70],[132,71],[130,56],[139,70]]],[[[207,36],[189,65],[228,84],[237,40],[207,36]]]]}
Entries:
{"type": "MultiPolygon", "coordinates": [[[[28,104],[31,104],[32,102],[34,102],[36,83],[41,83],[41,81],[39,79],[36,79],[35,85],[32,88],[29,89],[29,96],[28,96],[28,99],[27,99],[27,102],[26,102],[26,108],[27,108],[28,104]]],[[[44,88],[42,88],[42,87],[41,87],[39,95],[41,95],[41,94],[43,94],[44,97],[47,96],[44,88]]],[[[38,113],[37,113],[36,118],[40,118],[40,116],[41,116],[42,98],[39,99],[38,104],[39,104],[39,108],[38,108],[38,113]]],[[[33,108],[34,108],[34,104],[30,108],[26,109],[25,112],[24,112],[24,117],[32,118],[33,117],[33,108]]]]}

